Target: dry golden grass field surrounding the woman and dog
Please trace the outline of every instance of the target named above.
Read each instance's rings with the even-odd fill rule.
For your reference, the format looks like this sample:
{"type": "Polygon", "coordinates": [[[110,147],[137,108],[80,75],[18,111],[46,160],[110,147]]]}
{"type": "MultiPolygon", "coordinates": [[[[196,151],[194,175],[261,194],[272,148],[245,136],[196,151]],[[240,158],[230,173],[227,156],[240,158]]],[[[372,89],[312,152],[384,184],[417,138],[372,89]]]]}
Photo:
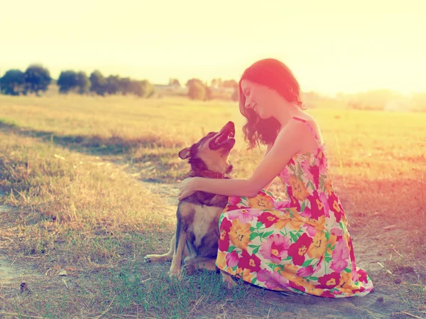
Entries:
{"type": "Polygon", "coordinates": [[[307,112],[368,296],[226,291],[219,275],[170,281],[170,263],[143,262],[173,236],[178,151],[231,120],[232,177],[261,161],[236,102],[0,95],[0,318],[426,318],[426,113],[307,112]]]}

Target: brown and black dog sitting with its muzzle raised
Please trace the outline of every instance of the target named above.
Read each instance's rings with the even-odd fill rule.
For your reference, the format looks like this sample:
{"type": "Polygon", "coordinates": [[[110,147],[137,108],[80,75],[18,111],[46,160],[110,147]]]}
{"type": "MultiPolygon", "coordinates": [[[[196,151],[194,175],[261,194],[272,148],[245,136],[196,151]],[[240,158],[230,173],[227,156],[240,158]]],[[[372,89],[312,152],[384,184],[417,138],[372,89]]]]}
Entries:
{"type": "MultiPolygon", "coordinates": [[[[235,145],[235,126],[226,123],[219,132],[209,132],[200,141],[179,152],[182,160],[189,158],[191,171],[187,177],[229,178],[232,165],[229,152],[235,145]]],[[[197,191],[178,203],[176,233],[170,241],[167,254],[149,254],[146,262],[172,260],[170,277],[180,277],[182,259],[187,274],[195,268],[217,271],[215,264],[219,245],[219,217],[228,202],[227,196],[197,191]]],[[[222,271],[227,288],[236,283],[222,271]]]]}

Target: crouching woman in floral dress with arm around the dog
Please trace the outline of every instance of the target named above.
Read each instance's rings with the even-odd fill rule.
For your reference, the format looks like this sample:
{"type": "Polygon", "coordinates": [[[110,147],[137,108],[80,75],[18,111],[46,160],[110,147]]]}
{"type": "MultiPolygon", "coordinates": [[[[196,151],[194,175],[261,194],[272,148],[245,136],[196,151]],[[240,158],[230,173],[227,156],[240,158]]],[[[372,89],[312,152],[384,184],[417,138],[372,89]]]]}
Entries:
{"type": "Polygon", "coordinates": [[[264,59],[239,82],[249,148],[267,146],[249,179],[187,178],[179,200],[197,190],[229,196],[219,219],[217,266],[256,286],[329,298],[365,296],[373,283],[356,267],[342,204],[334,193],[315,119],[289,68],[264,59]],[[278,176],[284,199],[266,191],[278,176]]]}

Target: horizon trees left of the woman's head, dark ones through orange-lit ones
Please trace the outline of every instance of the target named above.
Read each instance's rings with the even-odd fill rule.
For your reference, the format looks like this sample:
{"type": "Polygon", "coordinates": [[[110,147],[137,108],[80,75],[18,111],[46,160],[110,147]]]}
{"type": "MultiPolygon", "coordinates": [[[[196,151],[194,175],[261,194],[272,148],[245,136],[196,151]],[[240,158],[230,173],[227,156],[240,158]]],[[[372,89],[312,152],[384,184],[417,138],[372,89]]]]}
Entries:
{"type": "MultiPolygon", "coordinates": [[[[0,77],[0,93],[8,95],[27,95],[41,93],[48,90],[54,82],[50,72],[43,65],[30,65],[22,72],[18,69],[8,70],[0,77]]],[[[130,77],[109,75],[104,77],[99,70],[94,70],[89,76],[86,72],[63,70],[56,80],[60,94],[74,92],[77,94],[134,94],[138,97],[151,97],[155,94],[155,87],[148,80],[133,80],[130,77]]],[[[181,87],[178,79],[171,78],[169,87],[181,87]]],[[[210,83],[192,78],[187,81],[187,96],[190,99],[232,99],[239,100],[238,82],[236,80],[222,80],[214,78],[210,83]]],[[[172,92],[173,93],[173,92],[172,92]]]]}

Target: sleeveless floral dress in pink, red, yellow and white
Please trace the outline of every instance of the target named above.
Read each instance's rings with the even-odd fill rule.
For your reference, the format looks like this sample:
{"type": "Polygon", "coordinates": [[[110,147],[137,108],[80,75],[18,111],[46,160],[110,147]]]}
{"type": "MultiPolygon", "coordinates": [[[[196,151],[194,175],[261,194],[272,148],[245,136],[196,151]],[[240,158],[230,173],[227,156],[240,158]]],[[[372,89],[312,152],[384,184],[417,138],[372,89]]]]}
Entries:
{"type": "MultiPolygon", "coordinates": [[[[303,121],[317,139],[315,131],[303,121]]],[[[318,141],[318,139],[317,139],[318,141]]],[[[230,197],[219,219],[219,269],[275,291],[339,298],[373,290],[356,266],[342,204],[322,144],[297,153],[278,175],[285,198],[230,197]]]]}

